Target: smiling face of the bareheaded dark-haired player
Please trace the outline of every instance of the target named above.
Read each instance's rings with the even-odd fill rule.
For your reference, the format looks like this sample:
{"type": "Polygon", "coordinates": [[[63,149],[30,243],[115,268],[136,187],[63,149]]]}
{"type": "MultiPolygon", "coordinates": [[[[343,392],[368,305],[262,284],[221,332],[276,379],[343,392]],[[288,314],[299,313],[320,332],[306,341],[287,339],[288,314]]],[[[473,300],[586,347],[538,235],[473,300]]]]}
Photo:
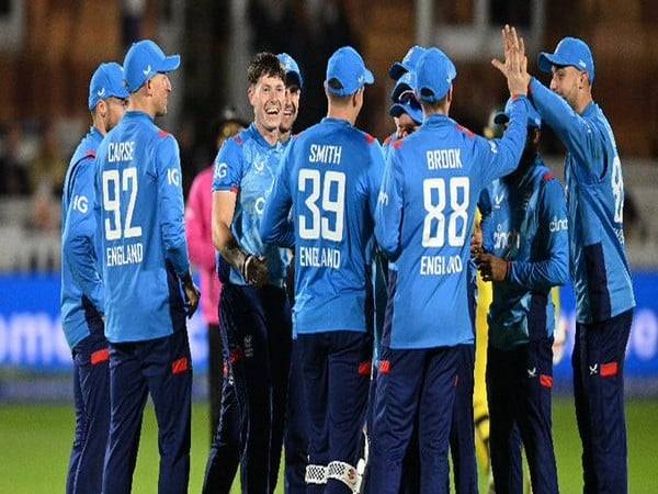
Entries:
{"type": "Polygon", "coordinates": [[[253,121],[266,132],[279,130],[285,106],[285,85],[279,76],[262,75],[249,87],[249,103],[253,106],[253,121]]]}

